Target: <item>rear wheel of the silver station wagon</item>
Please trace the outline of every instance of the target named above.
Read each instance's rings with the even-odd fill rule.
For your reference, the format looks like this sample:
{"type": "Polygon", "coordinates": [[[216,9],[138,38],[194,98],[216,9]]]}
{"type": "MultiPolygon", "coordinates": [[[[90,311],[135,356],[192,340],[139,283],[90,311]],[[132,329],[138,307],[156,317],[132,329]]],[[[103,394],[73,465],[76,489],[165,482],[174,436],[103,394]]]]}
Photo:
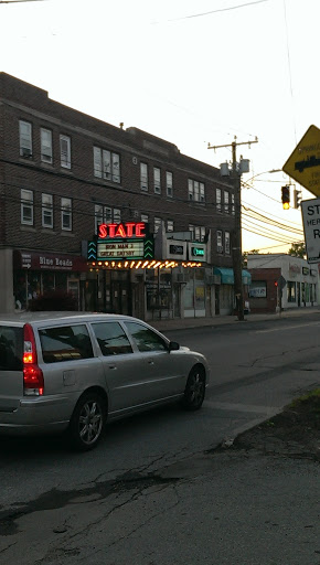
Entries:
{"type": "Polygon", "coordinates": [[[107,417],[106,402],[97,393],[82,396],[70,422],[72,445],[82,450],[93,449],[99,441],[107,417]]]}

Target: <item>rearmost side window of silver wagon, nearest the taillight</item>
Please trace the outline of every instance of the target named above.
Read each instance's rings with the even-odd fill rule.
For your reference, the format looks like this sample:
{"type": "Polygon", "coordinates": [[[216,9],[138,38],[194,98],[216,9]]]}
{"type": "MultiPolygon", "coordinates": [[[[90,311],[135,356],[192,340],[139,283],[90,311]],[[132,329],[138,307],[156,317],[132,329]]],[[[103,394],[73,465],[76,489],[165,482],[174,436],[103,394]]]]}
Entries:
{"type": "Polygon", "coordinates": [[[61,326],[39,330],[44,363],[77,361],[94,356],[85,324],[61,326]]]}

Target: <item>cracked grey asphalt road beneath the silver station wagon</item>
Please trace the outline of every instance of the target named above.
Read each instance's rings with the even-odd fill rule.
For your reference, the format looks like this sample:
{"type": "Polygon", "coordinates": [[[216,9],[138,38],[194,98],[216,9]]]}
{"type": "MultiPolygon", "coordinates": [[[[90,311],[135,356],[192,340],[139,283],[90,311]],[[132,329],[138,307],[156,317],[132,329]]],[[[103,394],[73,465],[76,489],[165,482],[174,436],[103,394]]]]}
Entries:
{"type": "Polygon", "coordinates": [[[0,564],[318,565],[319,467],[299,461],[295,483],[284,461],[213,459],[212,449],[320,386],[319,324],[305,316],[167,332],[210,361],[203,408],[185,414],[174,405],[111,424],[93,452],[70,452],[61,438],[1,438],[0,564]],[[312,555],[299,556],[294,543],[278,559],[284,536],[302,540],[303,552],[314,542],[312,555]]]}

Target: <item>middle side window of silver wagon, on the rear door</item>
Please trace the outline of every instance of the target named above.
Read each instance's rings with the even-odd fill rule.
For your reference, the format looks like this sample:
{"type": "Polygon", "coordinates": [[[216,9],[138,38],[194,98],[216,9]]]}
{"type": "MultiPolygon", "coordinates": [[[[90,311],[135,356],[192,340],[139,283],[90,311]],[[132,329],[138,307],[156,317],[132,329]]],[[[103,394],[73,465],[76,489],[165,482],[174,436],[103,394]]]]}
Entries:
{"type": "Polygon", "coordinates": [[[92,327],[104,356],[132,353],[131,344],[118,322],[97,322],[92,327]]]}

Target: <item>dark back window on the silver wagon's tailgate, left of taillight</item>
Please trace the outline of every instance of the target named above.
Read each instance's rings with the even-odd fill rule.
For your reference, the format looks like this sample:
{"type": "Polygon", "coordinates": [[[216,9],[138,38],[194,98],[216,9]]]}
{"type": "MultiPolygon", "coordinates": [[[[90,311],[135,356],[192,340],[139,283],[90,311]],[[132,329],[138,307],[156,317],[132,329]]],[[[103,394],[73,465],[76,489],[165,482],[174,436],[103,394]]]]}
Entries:
{"type": "Polygon", "coordinates": [[[0,371],[22,371],[23,329],[0,326],[0,371]]]}

